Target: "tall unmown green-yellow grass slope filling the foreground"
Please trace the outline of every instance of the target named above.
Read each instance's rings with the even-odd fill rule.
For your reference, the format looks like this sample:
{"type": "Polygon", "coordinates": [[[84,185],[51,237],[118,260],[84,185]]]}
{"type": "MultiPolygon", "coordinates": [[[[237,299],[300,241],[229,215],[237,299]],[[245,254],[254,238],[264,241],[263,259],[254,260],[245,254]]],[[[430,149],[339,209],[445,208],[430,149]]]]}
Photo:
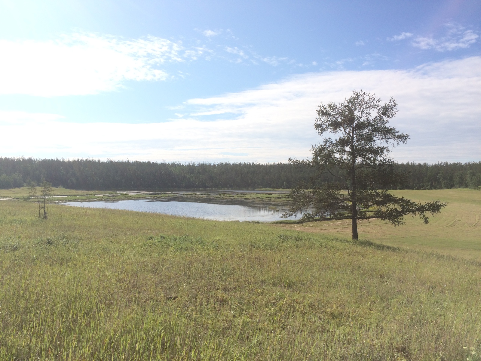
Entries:
{"type": "Polygon", "coordinates": [[[0,360],[466,360],[480,344],[473,260],[266,224],[0,206],[0,360]]]}

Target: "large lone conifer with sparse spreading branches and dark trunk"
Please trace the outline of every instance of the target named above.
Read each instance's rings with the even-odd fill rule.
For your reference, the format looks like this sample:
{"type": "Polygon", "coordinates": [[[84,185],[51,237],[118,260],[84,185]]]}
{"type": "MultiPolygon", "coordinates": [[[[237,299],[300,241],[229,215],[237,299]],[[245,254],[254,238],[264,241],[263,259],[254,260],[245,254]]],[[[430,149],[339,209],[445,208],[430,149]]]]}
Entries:
{"type": "Polygon", "coordinates": [[[388,156],[392,146],[409,139],[387,125],[396,113],[394,99],[381,105],[380,98],[363,90],[339,104],[321,103],[314,127],[323,142],[312,147],[312,159],[289,159],[316,168],[316,175],[291,190],[291,209],[284,216],[307,209],[301,222],[351,219],[357,240],[358,219],[382,219],[397,226],[411,214],[427,224],[427,214],[439,213],[446,203],[421,204],[388,192],[406,180],[405,174],[393,170],[394,161],[388,156]],[[326,172],[332,181],[321,182],[320,175],[326,172]]]}

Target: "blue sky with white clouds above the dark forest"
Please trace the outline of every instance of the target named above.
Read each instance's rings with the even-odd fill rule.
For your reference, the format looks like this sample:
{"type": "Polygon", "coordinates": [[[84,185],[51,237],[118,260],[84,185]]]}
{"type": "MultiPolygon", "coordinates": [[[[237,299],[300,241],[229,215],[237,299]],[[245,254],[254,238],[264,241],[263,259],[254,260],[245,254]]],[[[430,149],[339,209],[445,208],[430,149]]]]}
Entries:
{"type": "Polygon", "coordinates": [[[0,156],[286,162],[393,97],[399,162],[481,160],[481,2],[0,0],[0,156]]]}

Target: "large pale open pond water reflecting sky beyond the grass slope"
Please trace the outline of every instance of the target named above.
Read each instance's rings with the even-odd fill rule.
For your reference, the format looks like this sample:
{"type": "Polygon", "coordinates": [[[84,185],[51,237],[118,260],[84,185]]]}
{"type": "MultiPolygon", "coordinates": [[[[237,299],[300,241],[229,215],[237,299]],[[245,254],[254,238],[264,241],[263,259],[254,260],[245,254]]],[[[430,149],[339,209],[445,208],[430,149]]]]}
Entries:
{"type": "MultiPolygon", "coordinates": [[[[163,213],[174,216],[194,217],[214,220],[239,220],[272,222],[282,220],[282,211],[267,206],[226,205],[198,202],[152,201],[148,199],[132,199],[119,202],[66,202],[68,206],[127,209],[139,212],[163,213]]],[[[297,216],[299,217],[299,215],[297,216]]],[[[288,219],[295,219],[290,217],[288,219]]]]}

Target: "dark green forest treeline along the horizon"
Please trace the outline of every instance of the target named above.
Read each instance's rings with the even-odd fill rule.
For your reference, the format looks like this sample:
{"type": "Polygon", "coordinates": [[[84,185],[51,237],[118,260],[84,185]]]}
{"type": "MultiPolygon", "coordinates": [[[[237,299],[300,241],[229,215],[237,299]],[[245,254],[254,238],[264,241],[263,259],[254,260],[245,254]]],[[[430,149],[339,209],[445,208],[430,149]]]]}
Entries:
{"type": "MultiPolygon", "coordinates": [[[[400,163],[408,174],[400,189],[477,188],[481,162],[400,163]]],[[[308,181],[311,168],[289,163],[156,163],[94,159],[1,158],[0,188],[21,187],[30,181],[81,190],[169,190],[291,188],[308,181]]],[[[332,181],[329,174],[321,181],[332,181]]]]}

